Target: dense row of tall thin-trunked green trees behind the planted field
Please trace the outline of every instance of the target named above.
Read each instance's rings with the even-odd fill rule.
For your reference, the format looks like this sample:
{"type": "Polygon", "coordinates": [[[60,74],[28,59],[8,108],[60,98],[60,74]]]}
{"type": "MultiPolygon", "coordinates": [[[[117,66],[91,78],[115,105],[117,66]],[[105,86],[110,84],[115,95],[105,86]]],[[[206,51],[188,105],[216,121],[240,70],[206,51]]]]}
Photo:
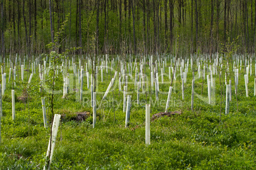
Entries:
{"type": "Polygon", "coordinates": [[[46,52],[64,21],[60,51],[211,54],[238,37],[254,53],[255,11],[255,0],[1,0],[1,55],[46,52]]]}

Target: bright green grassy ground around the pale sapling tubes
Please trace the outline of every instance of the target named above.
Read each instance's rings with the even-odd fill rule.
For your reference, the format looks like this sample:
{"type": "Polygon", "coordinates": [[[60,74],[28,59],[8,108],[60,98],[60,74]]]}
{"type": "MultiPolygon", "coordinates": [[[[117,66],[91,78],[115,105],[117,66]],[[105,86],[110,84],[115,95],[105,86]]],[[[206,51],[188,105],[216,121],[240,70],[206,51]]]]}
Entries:
{"type": "MultiPolygon", "coordinates": [[[[140,94],[139,105],[135,101],[132,102],[129,128],[125,128],[125,113],[122,111],[123,93],[118,92],[118,79],[115,81],[114,91],[108,94],[105,101],[101,101],[110,83],[110,72],[104,72],[104,82],[101,82],[99,74],[96,128],[92,128],[92,117],[83,122],[70,121],[76,112],[92,112],[90,91],[84,77],[83,101],[77,100],[75,92],[66,98],[62,98],[62,94],[55,95],[54,112],[65,114],[66,118],[62,119],[59,126],[52,169],[256,169],[254,76],[249,78],[249,96],[246,98],[243,72],[242,69],[239,74],[238,112],[232,86],[232,101],[228,115],[225,115],[225,93],[222,95],[220,107],[221,87],[218,75],[215,75],[213,105],[199,99],[198,96],[203,96],[208,100],[207,83],[206,80],[203,83],[201,78],[196,79],[195,92],[198,96],[194,97],[194,111],[191,111],[192,72],[189,69],[184,100],[181,100],[181,81],[177,73],[169,111],[178,110],[182,114],[152,121],[150,145],[145,145],[145,103],[150,103],[150,92],[140,94]]],[[[113,74],[114,72],[111,72],[111,75],[113,74]]],[[[27,77],[27,73],[25,75],[27,77]]],[[[146,75],[150,75],[148,67],[146,75]]],[[[137,87],[134,87],[131,79],[129,82],[129,95],[132,96],[132,100],[136,100],[137,87]]],[[[159,102],[155,102],[155,90],[152,88],[151,116],[165,110],[170,84],[167,75],[164,76],[164,82],[161,83],[159,76],[159,88],[162,91],[159,94],[159,102]]],[[[150,89],[150,82],[147,84],[150,89]]],[[[6,84],[3,96],[0,169],[42,169],[50,128],[45,129],[43,126],[40,96],[42,94],[38,93],[38,74],[32,78],[29,103],[18,100],[18,97],[22,96],[24,85],[16,82],[15,121],[11,118],[11,85],[11,82],[6,84]]],[[[49,105],[47,99],[46,104],[49,105]]],[[[50,120],[50,108],[46,110],[50,120]]]]}

